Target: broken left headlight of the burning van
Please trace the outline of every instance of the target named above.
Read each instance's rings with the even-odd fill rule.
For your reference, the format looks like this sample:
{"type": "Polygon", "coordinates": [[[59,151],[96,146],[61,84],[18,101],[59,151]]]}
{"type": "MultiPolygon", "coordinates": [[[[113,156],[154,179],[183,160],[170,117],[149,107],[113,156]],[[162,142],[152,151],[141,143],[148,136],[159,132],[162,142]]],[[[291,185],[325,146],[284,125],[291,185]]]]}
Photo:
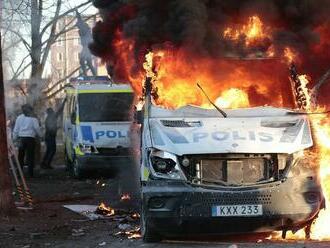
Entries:
{"type": "Polygon", "coordinates": [[[150,153],[150,171],[154,177],[165,179],[185,180],[179,167],[176,155],[159,150],[150,153]]]}

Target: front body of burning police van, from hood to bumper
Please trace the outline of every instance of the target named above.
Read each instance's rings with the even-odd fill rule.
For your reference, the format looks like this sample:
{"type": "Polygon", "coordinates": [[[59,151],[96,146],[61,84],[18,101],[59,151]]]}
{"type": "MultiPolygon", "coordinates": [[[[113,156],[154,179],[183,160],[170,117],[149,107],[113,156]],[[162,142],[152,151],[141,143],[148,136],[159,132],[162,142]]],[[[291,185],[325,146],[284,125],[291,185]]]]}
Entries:
{"type": "Polygon", "coordinates": [[[308,117],[256,107],[176,110],[147,95],[142,132],[145,241],[310,226],[325,201],[308,117]]]}

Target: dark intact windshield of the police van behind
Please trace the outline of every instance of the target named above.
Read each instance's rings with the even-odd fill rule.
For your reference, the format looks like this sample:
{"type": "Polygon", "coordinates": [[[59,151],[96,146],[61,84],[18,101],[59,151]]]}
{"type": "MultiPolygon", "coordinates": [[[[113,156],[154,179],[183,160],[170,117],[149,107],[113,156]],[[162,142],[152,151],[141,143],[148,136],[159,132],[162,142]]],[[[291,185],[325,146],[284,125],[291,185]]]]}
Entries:
{"type": "Polygon", "coordinates": [[[80,121],[129,121],[133,93],[79,94],[78,103],[80,121]]]}

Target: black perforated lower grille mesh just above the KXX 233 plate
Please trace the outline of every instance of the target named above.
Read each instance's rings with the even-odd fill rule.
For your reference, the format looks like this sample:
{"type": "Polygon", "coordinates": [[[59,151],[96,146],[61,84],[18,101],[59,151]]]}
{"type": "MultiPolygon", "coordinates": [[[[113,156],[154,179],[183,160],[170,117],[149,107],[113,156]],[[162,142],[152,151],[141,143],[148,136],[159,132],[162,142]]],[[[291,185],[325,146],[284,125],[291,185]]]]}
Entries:
{"type": "Polygon", "coordinates": [[[262,193],[203,193],[203,194],[187,194],[184,196],[182,207],[180,209],[181,216],[202,216],[211,217],[211,209],[213,206],[222,205],[263,205],[264,215],[269,215],[267,206],[272,204],[270,194],[262,193]]]}

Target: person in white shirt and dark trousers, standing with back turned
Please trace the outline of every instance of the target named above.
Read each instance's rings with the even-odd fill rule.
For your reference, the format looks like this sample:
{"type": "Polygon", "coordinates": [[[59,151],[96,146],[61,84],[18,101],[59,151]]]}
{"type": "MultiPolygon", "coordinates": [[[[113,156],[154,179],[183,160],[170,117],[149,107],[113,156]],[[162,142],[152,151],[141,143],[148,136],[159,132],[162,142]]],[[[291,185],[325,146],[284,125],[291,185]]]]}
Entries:
{"type": "Polygon", "coordinates": [[[24,165],[25,156],[29,167],[29,175],[33,177],[34,150],[36,138],[41,137],[41,130],[38,119],[33,116],[32,106],[22,106],[23,114],[19,115],[13,130],[13,139],[19,141],[18,160],[21,166],[24,165]]]}

